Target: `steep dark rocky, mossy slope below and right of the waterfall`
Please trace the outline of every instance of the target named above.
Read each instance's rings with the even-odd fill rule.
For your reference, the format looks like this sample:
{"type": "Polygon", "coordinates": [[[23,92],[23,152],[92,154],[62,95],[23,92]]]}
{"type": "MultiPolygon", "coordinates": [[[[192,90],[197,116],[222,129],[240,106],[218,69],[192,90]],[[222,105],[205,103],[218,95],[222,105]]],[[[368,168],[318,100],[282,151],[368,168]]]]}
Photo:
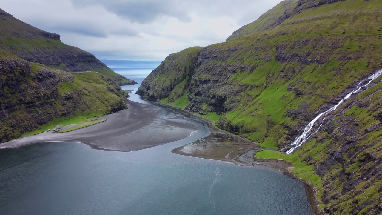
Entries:
{"type": "Polygon", "coordinates": [[[325,120],[298,152],[322,179],[327,213],[382,213],[382,82],[325,120]]]}

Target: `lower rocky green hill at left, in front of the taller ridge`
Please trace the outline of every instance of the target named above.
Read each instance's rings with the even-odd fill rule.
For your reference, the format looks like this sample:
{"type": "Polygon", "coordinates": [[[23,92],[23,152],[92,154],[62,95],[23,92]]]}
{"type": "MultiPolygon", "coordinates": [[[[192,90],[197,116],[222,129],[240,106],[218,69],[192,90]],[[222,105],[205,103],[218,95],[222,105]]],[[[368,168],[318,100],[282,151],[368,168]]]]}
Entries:
{"type": "Polygon", "coordinates": [[[0,143],[46,129],[52,121],[65,124],[127,108],[128,95],[107,76],[68,73],[3,51],[0,80],[0,143]]]}

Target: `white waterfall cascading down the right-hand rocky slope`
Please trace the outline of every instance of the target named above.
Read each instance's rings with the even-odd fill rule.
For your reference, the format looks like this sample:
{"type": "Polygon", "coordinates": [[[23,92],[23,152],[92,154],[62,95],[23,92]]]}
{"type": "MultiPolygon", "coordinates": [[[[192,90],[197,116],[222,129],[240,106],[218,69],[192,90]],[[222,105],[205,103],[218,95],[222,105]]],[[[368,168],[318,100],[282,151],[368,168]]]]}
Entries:
{"type": "Polygon", "coordinates": [[[326,116],[328,116],[328,114],[332,111],[334,111],[335,109],[338,108],[338,106],[340,106],[340,104],[345,101],[346,99],[350,98],[350,96],[354,93],[357,93],[359,92],[363,87],[369,85],[371,83],[371,81],[375,80],[376,78],[378,78],[380,75],[382,74],[382,69],[378,70],[376,73],[372,74],[369,78],[365,79],[365,80],[362,80],[361,82],[358,83],[357,87],[351,91],[350,93],[348,93],[343,99],[341,99],[341,101],[339,101],[335,106],[333,106],[332,108],[330,108],[329,110],[323,112],[323,113],[320,113],[318,116],[316,116],[316,118],[314,118],[311,122],[309,122],[308,125],[306,125],[303,133],[301,135],[299,135],[291,144],[290,144],[290,149],[288,151],[286,151],[287,154],[291,154],[293,151],[296,150],[296,148],[300,147],[301,145],[303,145],[303,143],[305,143],[306,140],[308,140],[308,138],[310,138],[313,134],[316,134],[318,130],[320,130],[322,124],[324,123],[324,120],[326,118],[326,116]],[[364,84],[365,81],[369,80],[369,82],[367,82],[366,84],[364,84]],[[324,116],[325,118],[322,119],[322,123],[320,124],[320,126],[314,131],[314,132],[311,132],[312,129],[313,129],[313,125],[314,123],[320,119],[320,117],[324,116]]]}

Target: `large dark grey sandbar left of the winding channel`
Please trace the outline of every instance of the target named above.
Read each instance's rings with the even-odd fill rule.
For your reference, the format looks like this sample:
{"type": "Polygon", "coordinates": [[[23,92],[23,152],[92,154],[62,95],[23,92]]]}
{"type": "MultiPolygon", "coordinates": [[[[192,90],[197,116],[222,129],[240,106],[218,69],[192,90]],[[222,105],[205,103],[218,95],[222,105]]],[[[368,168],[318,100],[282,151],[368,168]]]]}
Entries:
{"type": "Polygon", "coordinates": [[[13,148],[37,142],[81,142],[92,148],[135,151],[164,143],[181,140],[196,132],[187,124],[183,115],[163,111],[155,104],[126,101],[128,109],[104,116],[104,122],[82,129],[42,134],[19,138],[0,144],[0,148],[13,148]],[[168,117],[167,117],[168,116],[168,117]]]}

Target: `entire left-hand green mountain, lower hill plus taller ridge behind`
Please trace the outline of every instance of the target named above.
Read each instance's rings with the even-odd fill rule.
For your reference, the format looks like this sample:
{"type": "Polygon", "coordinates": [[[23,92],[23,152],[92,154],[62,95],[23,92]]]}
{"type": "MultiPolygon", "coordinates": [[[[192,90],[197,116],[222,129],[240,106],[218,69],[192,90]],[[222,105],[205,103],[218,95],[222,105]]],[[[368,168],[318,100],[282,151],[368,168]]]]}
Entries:
{"type": "Polygon", "coordinates": [[[119,78],[94,55],[3,11],[0,32],[0,143],[127,108],[128,95],[115,80],[131,80],[119,78]]]}

